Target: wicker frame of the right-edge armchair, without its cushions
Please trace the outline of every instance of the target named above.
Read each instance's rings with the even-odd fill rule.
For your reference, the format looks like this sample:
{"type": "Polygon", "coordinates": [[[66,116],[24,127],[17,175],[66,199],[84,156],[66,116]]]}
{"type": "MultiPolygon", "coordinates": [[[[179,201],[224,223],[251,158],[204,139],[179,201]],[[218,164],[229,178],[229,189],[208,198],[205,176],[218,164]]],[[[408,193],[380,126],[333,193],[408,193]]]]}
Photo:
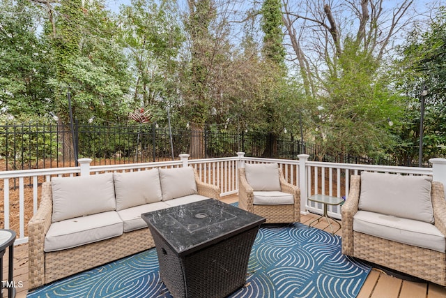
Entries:
{"type": "MultiPolygon", "coordinates": [[[[376,186],[376,188],[380,189],[384,187],[387,186],[376,186]]],[[[353,217],[358,210],[361,211],[360,197],[362,196],[361,177],[353,175],[351,177],[348,200],[346,200],[341,209],[342,253],[446,286],[445,252],[403,244],[399,241],[392,241],[356,231],[358,230],[357,221],[355,221],[354,227],[353,217]]],[[[392,204],[389,200],[387,202],[392,204]]],[[[440,182],[431,182],[431,203],[435,228],[441,234],[446,235],[446,201],[443,184],[440,182]]],[[[403,204],[399,207],[399,209],[406,209],[408,204],[403,204]]],[[[394,218],[393,221],[397,221],[397,218],[394,218]]],[[[408,228],[413,227],[413,225],[406,226],[408,228]]]]}

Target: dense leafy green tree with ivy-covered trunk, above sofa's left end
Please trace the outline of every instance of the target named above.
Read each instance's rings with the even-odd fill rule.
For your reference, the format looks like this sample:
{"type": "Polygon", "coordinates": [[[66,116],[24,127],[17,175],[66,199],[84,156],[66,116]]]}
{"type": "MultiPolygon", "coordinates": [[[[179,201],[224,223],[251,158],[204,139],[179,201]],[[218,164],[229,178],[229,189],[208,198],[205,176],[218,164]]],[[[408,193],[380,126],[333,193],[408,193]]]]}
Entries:
{"type": "MultiPolygon", "coordinates": [[[[116,42],[117,26],[102,1],[61,0],[45,3],[45,33],[56,75],[49,80],[61,121],[68,122],[67,93],[75,116],[86,121],[127,117],[123,98],[130,87],[128,61],[116,42]]],[[[125,103],[125,102],[124,102],[125,103]]]]}

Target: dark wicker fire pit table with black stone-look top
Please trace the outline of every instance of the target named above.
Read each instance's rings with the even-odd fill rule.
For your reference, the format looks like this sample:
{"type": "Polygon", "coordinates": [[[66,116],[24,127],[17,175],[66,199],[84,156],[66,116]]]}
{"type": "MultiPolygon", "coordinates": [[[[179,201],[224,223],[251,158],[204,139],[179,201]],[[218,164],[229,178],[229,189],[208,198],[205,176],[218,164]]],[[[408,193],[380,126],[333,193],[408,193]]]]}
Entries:
{"type": "Polygon", "coordinates": [[[141,217],[173,297],[226,297],[245,285],[252,244],[265,218],[213,199],[141,217]]]}

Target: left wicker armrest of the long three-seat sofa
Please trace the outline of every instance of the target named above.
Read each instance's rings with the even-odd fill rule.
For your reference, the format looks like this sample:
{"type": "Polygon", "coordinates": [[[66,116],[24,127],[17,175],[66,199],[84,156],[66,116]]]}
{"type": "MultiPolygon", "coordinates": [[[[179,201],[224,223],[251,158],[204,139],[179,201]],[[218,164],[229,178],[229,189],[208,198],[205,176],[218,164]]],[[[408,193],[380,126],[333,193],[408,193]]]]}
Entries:
{"type": "Polygon", "coordinates": [[[28,223],[29,288],[45,284],[45,235],[51,225],[52,187],[50,182],[42,184],[40,206],[28,223]]]}

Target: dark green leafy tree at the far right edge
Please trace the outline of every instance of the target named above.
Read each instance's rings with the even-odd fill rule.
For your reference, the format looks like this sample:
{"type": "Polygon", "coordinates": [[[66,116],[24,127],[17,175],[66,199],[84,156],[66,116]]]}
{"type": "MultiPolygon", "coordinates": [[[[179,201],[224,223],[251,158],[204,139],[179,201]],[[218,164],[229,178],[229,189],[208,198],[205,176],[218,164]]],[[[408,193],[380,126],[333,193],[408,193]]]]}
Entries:
{"type": "Polygon", "coordinates": [[[427,28],[414,27],[399,49],[401,58],[394,75],[401,94],[404,94],[405,125],[395,134],[401,146],[396,153],[401,163],[410,165],[417,158],[420,139],[421,93],[426,105],[422,161],[446,154],[446,8],[434,10],[427,28]]]}

